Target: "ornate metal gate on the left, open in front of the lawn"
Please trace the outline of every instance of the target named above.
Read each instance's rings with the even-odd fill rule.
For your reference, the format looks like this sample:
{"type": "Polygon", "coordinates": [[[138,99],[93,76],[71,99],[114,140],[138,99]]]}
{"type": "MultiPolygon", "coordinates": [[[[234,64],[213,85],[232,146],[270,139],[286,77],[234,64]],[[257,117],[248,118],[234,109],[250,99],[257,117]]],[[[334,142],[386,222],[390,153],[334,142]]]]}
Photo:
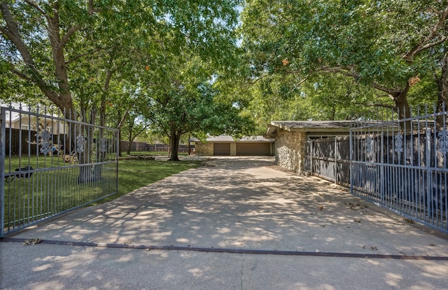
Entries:
{"type": "Polygon", "coordinates": [[[118,191],[118,130],[1,108],[0,238],[118,191]]]}

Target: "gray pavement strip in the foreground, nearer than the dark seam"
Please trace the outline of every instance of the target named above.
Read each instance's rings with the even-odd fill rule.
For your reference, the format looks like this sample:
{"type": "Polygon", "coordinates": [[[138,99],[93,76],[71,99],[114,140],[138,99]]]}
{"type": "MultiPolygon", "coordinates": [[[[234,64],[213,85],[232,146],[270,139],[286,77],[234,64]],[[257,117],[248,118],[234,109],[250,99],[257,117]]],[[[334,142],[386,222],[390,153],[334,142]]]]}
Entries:
{"type": "Polygon", "coordinates": [[[448,261],[0,245],[10,251],[1,258],[1,289],[428,290],[447,285],[448,261]]]}

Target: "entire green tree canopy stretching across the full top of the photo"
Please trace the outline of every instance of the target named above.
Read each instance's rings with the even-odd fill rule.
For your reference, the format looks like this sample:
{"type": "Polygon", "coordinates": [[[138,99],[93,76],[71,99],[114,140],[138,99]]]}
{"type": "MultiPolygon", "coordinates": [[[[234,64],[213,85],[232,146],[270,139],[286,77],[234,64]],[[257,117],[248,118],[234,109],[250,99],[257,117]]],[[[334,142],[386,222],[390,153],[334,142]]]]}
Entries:
{"type": "MultiPolygon", "coordinates": [[[[448,100],[445,1],[0,2],[0,98],[165,133],[448,100]],[[239,14],[239,12],[241,13],[239,14]]],[[[130,137],[131,138],[131,137],[130,137]]],[[[174,157],[176,158],[176,156],[174,157]]]]}

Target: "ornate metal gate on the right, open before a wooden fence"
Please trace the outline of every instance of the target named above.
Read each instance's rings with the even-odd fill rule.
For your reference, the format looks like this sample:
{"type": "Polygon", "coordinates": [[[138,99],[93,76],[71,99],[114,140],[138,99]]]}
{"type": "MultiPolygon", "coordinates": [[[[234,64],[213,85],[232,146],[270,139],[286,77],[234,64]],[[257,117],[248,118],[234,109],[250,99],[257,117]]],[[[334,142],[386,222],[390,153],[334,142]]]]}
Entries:
{"type": "Polygon", "coordinates": [[[351,193],[447,232],[448,113],[431,111],[353,122],[351,193]]]}

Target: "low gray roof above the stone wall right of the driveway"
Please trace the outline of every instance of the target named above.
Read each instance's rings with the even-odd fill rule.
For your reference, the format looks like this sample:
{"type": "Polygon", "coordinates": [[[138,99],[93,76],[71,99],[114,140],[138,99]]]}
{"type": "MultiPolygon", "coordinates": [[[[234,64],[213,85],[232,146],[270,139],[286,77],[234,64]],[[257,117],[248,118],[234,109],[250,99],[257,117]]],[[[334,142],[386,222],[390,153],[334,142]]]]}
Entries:
{"type": "Polygon", "coordinates": [[[304,132],[307,136],[348,135],[351,121],[272,121],[265,137],[274,138],[279,131],[304,132]]]}

